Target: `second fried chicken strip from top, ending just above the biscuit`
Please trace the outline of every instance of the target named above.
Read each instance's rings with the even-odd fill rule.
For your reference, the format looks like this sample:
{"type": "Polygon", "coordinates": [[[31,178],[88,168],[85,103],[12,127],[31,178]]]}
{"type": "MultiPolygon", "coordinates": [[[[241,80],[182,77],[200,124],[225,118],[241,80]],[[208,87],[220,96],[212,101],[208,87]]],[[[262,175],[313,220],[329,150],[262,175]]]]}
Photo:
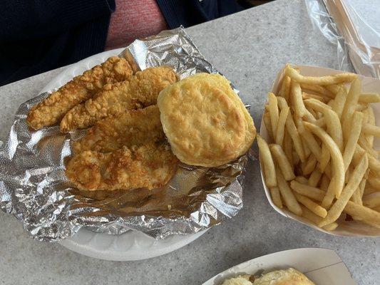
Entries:
{"type": "Polygon", "coordinates": [[[168,66],[138,71],[128,81],[105,86],[93,98],[72,108],[61,120],[61,132],[88,128],[109,115],[153,105],[160,91],[175,81],[177,76],[168,66]]]}

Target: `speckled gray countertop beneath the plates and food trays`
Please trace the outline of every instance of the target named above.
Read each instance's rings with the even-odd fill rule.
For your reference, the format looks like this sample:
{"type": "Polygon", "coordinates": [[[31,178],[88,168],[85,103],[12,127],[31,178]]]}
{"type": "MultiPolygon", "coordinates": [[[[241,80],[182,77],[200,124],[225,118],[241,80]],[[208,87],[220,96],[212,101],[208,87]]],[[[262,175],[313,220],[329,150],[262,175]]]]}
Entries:
{"type": "MultiPolygon", "coordinates": [[[[336,48],[314,31],[304,1],[278,0],[187,29],[200,51],[250,103],[255,124],[267,91],[285,63],[337,66],[336,48]]],[[[0,138],[19,104],[38,94],[61,69],[0,88],[0,138]]],[[[380,239],[332,237],[282,217],[264,194],[257,161],[250,162],[244,209],[175,252],[143,261],[103,261],[32,240],[21,223],[0,213],[1,284],[202,284],[242,261],[298,247],[334,249],[358,284],[380,279],[380,239]]],[[[344,285],[344,284],[342,284],[344,285]]]]}

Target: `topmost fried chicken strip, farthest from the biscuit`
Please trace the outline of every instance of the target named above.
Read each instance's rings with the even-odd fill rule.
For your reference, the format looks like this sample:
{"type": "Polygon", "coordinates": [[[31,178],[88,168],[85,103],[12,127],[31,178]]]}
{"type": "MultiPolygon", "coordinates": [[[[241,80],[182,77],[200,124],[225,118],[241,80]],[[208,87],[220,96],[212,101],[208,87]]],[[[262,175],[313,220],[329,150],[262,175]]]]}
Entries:
{"type": "Polygon", "coordinates": [[[106,84],[125,81],[132,73],[125,58],[112,56],[100,66],[94,66],[81,76],[76,76],[31,108],[26,123],[35,130],[54,125],[68,110],[91,98],[106,84]]]}

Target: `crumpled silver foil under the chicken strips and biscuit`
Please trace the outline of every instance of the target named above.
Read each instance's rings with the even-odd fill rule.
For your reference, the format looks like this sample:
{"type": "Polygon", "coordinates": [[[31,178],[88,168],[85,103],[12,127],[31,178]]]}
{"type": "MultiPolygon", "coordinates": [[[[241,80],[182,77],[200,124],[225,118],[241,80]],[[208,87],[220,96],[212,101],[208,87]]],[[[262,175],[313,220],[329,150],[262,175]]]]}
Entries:
{"type": "MultiPolygon", "coordinates": [[[[180,78],[217,73],[183,28],[136,40],[119,56],[133,58],[142,70],[172,66],[180,78]]],[[[59,126],[33,131],[26,125],[31,107],[51,92],[20,106],[0,149],[0,207],[34,239],[57,242],[81,227],[108,234],[135,229],[164,239],[207,229],[242,209],[247,155],[216,168],[180,165],[168,185],[156,190],[77,190],[65,176],[64,161],[83,130],[63,135],[59,126]]]]}

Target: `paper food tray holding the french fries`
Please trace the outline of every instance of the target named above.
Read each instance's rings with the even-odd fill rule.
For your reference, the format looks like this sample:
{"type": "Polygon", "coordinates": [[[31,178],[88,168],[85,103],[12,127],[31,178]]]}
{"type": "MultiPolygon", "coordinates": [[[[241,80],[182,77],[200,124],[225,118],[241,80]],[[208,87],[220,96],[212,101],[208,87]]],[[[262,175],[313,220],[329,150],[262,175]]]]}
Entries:
{"type": "MultiPolygon", "coordinates": [[[[343,71],[336,71],[334,69],[322,68],[322,67],[317,67],[317,66],[297,66],[297,67],[299,67],[299,72],[304,76],[328,76],[328,75],[333,75],[336,73],[343,72],[343,71]]],[[[274,80],[272,90],[271,90],[271,92],[274,94],[278,93],[279,83],[282,81],[282,77],[284,76],[283,73],[284,73],[284,68],[282,68],[282,70],[279,71],[276,79],[274,80]]],[[[379,79],[364,77],[360,75],[359,75],[359,78],[361,79],[361,90],[363,92],[375,92],[375,93],[380,92],[379,79]]],[[[371,104],[371,106],[374,109],[376,125],[379,125],[380,124],[380,103],[371,104]]],[[[260,135],[265,140],[268,139],[267,128],[265,128],[264,120],[261,120],[260,135]]],[[[375,138],[374,148],[377,150],[380,150],[379,138],[375,138]]],[[[301,222],[302,224],[307,224],[309,227],[317,229],[321,232],[326,232],[327,234],[333,234],[337,236],[346,236],[346,237],[380,237],[380,229],[375,229],[374,227],[370,227],[361,222],[356,222],[356,221],[339,222],[339,227],[337,227],[337,229],[335,229],[332,232],[327,232],[324,229],[321,229],[315,226],[314,224],[310,223],[307,219],[304,219],[303,217],[299,217],[296,214],[289,212],[287,209],[284,209],[284,208],[279,209],[279,207],[277,207],[273,203],[269,189],[267,188],[267,185],[265,185],[264,175],[262,173],[262,170],[260,171],[261,171],[262,184],[264,185],[265,195],[267,195],[269,204],[271,204],[272,207],[283,216],[291,218],[291,219],[296,219],[298,222],[301,222]]]]}

